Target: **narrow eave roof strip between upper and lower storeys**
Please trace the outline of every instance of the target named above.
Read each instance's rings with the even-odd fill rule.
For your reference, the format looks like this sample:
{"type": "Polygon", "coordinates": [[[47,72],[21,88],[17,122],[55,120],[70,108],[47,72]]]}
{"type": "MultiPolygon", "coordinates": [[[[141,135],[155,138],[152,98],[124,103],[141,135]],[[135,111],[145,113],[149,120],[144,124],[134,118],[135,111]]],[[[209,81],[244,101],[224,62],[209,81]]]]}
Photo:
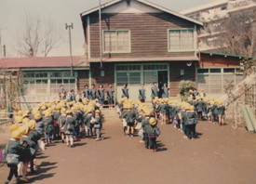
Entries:
{"type": "MultiPolygon", "coordinates": [[[[102,59],[102,62],[146,62],[146,61],[187,61],[199,60],[196,56],[189,57],[168,57],[168,58],[122,58],[122,59],[102,59]]],[[[101,59],[88,59],[88,62],[101,62],[101,59]]]]}

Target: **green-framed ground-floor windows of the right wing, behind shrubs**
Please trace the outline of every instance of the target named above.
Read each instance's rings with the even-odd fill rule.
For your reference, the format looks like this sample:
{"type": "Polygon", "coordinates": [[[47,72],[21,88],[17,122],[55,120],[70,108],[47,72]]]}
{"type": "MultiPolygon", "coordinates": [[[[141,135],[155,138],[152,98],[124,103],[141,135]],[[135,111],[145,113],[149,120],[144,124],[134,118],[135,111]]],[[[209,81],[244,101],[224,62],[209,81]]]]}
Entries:
{"type": "Polygon", "coordinates": [[[231,81],[237,85],[243,80],[243,73],[239,68],[197,68],[196,86],[198,90],[204,88],[207,94],[223,94],[223,88],[231,81]],[[226,80],[228,81],[226,81],[226,80]]]}

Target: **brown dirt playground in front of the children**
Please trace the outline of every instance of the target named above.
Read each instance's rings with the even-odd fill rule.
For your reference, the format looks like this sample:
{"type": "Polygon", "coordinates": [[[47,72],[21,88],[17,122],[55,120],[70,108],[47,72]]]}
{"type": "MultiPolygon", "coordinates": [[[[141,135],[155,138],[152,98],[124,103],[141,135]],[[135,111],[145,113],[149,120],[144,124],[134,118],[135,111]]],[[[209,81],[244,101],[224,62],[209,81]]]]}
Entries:
{"type": "MultiPolygon", "coordinates": [[[[186,140],[173,125],[159,127],[158,152],[152,152],[138,137],[123,136],[117,117],[107,118],[104,140],[81,138],[73,149],[55,140],[55,145],[38,153],[37,174],[28,177],[36,184],[256,183],[256,135],[245,128],[200,122],[196,126],[200,137],[186,140]]],[[[4,135],[8,133],[1,132],[1,143],[7,139],[4,135]]],[[[7,166],[0,167],[0,183],[7,174],[7,166]]]]}

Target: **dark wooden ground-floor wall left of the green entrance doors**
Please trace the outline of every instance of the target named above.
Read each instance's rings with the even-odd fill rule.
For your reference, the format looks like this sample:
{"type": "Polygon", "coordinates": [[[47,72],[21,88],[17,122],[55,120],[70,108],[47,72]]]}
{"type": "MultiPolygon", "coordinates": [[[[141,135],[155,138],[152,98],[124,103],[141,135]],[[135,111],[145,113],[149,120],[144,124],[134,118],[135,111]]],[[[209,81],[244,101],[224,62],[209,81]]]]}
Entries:
{"type": "Polygon", "coordinates": [[[115,64],[103,63],[103,69],[100,69],[100,63],[91,63],[91,84],[95,85],[95,88],[99,88],[99,85],[103,85],[104,89],[111,83],[115,89],[115,64]],[[105,76],[101,76],[101,71],[105,72],[105,76]]]}

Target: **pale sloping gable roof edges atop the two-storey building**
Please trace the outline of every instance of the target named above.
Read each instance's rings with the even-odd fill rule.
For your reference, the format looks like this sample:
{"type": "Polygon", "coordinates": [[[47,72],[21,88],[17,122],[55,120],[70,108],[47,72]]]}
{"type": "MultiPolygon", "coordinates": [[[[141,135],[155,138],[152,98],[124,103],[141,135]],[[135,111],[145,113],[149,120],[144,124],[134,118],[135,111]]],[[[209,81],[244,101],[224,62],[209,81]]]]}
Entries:
{"type": "MultiPolygon", "coordinates": [[[[105,8],[105,7],[110,7],[110,6],[115,5],[116,3],[119,3],[121,1],[123,1],[123,0],[113,0],[113,1],[110,1],[108,3],[105,3],[105,4],[101,5],[101,9],[105,8]]],[[[151,3],[151,2],[146,1],[146,0],[135,0],[135,1],[138,1],[138,2],[140,2],[142,4],[150,6],[150,7],[155,7],[157,9],[160,9],[160,10],[164,11],[164,12],[167,12],[169,14],[172,14],[172,15],[175,15],[175,16],[177,16],[179,18],[182,18],[183,20],[189,20],[189,21],[192,21],[192,22],[194,22],[194,23],[196,23],[198,25],[203,25],[203,23],[201,21],[199,21],[199,20],[194,20],[192,18],[188,18],[188,17],[186,17],[186,16],[184,16],[184,15],[178,13],[178,12],[172,11],[172,10],[166,8],[166,7],[160,7],[158,5],[155,5],[154,3],[151,3]]],[[[80,15],[81,15],[81,17],[83,17],[83,16],[86,16],[86,15],[88,15],[90,13],[95,12],[95,11],[99,11],[99,7],[91,8],[88,11],[85,11],[85,12],[81,13],[80,15]]]]}

